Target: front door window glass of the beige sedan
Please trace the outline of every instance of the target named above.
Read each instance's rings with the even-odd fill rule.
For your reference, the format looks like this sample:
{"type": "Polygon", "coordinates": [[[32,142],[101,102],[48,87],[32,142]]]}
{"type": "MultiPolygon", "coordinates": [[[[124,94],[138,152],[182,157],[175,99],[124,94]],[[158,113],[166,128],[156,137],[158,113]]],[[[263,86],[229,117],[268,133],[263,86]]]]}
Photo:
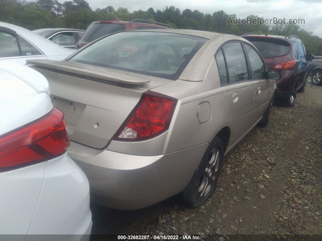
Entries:
{"type": "Polygon", "coordinates": [[[249,45],[245,44],[244,46],[248,54],[249,62],[251,64],[252,79],[265,79],[266,78],[265,65],[261,60],[260,56],[249,45]]]}

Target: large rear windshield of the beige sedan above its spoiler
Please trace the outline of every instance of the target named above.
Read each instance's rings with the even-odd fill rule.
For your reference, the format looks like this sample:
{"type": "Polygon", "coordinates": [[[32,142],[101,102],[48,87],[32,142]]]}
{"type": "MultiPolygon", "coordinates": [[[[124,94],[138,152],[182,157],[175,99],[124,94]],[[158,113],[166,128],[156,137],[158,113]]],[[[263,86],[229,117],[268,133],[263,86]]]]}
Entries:
{"type": "Polygon", "coordinates": [[[207,39],[164,32],[120,32],[83,49],[69,61],[177,79],[207,39]]]}

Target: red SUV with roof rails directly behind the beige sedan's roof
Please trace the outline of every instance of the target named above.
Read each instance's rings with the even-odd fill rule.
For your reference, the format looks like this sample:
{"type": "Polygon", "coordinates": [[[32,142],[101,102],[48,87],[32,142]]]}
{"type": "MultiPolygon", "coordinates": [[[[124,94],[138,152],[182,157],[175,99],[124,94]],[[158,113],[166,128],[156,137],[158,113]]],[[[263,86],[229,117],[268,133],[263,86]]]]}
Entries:
{"type": "Polygon", "coordinates": [[[145,19],[133,19],[130,22],[124,22],[119,18],[102,19],[97,22],[93,22],[85,30],[83,36],[76,44],[76,49],[83,47],[89,42],[94,41],[100,37],[108,35],[113,32],[130,30],[130,29],[160,29],[160,28],[173,28],[166,23],[159,23],[145,19]],[[146,23],[142,23],[146,22],[146,23]]]}

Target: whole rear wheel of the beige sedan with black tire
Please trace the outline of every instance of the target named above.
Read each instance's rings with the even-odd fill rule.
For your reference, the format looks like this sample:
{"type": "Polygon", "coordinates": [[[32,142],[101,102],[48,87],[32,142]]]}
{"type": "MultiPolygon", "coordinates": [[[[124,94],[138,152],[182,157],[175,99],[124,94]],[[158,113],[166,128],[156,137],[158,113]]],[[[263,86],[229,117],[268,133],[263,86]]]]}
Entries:
{"type": "Polygon", "coordinates": [[[183,200],[187,206],[197,208],[203,205],[213,194],[223,165],[223,154],[223,141],[216,136],[209,144],[198,169],[183,191],[183,200]],[[218,151],[217,159],[215,157],[216,151],[218,151]],[[213,160],[213,158],[216,160],[213,160]],[[212,160],[213,162],[210,163],[212,160]]]}

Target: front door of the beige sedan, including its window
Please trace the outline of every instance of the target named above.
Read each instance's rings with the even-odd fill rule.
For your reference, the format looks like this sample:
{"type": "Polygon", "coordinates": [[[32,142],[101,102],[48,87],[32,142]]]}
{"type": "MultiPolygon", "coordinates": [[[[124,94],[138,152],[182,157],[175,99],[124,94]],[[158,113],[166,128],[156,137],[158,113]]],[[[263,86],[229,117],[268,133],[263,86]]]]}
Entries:
{"type": "Polygon", "coordinates": [[[260,54],[248,44],[243,44],[247,60],[249,61],[250,76],[255,82],[254,117],[264,115],[270,97],[270,81],[267,79],[267,70],[260,54]]]}

